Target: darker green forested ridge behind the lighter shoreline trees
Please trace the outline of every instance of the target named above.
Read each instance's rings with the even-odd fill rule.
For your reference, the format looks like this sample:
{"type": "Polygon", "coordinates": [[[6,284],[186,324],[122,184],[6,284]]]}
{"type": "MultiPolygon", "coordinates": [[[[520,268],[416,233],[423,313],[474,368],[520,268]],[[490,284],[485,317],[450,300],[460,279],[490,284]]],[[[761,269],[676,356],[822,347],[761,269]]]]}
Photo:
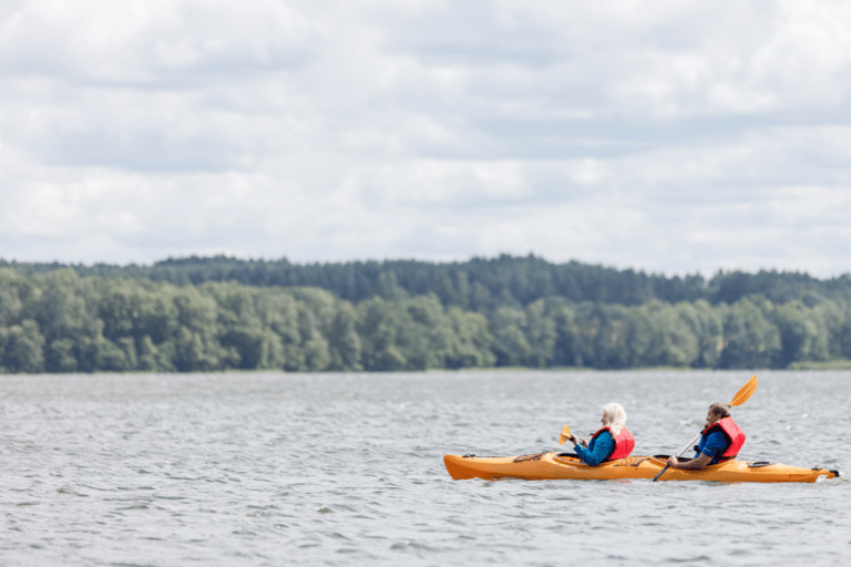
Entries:
{"type": "Polygon", "coordinates": [[[170,258],[151,266],[65,266],[0,260],[0,268],[3,267],[24,276],[70,267],[80,276],[146,279],[177,286],[234,281],[257,287],[315,287],[355,303],[391,293],[409,297],[433,293],[444,306],[486,316],[503,306],[526,307],[554,296],[574,303],[624,306],[700,299],[712,306],[731,305],[751,295],[761,295],[773,303],[798,299],[810,307],[828,299],[851,300],[851,275],[819,280],[798,272],[718,271],[707,280],[699,274],[666,277],[578,261],[553,264],[532,255],[443,264],[385,260],[299,265],[286,258],[243,260],[225,256],[170,258]]]}

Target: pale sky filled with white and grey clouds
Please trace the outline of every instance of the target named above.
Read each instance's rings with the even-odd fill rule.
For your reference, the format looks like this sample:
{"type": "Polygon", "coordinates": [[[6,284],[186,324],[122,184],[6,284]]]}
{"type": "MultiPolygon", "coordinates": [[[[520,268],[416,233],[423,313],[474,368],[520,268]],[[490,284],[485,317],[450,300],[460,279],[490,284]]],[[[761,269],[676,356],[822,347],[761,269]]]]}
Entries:
{"type": "Polygon", "coordinates": [[[851,3],[4,0],[0,258],[851,272],[851,3]]]}

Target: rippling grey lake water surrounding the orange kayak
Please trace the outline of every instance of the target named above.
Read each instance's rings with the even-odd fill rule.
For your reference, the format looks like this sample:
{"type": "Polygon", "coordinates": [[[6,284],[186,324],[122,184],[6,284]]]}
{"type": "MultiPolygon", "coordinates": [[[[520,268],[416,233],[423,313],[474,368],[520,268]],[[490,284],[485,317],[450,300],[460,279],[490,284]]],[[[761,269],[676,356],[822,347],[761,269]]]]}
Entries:
{"type": "MultiPolygon", "coordinates": [[[[851,482],[452,481],[618,401],[675,453],[748,372],[0,377],[0,565],[841,565],[851,482]]],[[[851,373],[759,372],[749,461],[851,473],[851,373]]]]}

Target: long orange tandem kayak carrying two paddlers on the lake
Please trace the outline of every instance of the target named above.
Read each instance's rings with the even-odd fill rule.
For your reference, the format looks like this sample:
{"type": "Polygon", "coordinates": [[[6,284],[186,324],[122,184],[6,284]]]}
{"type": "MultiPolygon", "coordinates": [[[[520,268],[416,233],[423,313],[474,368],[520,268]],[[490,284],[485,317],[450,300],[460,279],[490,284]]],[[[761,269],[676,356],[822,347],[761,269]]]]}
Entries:
{"type": "MultiPolygon", "coordinates": [[[[520,456],[445,455],[443,463],[452,478],[524,478],[527,481],[574,480],[619,481],[653,478],[667,464],[667,455],[628,456],[588,466],[570,453],[539,453],[520,456]]],[[[659,481],[716,481],[724,483],[814,483],[835,478],[839,471],[800,468],[767,462],[726,461],[701,471],[668,468],[659,481]]]]}

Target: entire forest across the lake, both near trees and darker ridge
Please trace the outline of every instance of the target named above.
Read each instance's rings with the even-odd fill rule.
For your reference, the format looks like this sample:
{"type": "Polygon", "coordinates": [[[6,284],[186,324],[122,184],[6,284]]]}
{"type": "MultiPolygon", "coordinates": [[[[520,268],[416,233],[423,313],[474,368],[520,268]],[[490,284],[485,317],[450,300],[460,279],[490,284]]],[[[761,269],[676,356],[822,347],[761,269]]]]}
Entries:
{"type": "Polygon", "coordinates": [[[851,280],[502,256],[0,262],[0,372],[788,368],[851,358],[851,280]]]}

